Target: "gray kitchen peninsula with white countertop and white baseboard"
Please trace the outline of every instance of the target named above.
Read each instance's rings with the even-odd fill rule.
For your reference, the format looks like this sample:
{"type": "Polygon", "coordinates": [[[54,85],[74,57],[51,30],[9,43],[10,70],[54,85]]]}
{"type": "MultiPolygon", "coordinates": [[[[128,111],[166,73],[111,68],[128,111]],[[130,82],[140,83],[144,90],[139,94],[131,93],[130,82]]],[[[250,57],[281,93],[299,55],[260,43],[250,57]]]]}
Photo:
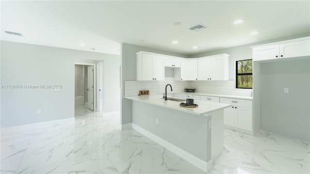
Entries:
{"type": "Polygon", "coordinates": [[[223,151],[223,109],[231,105],[194,100],[197,108],[184,108],[162,95],[125,98],[133,100],[134,129],[202,170],[211,170],[212,160],[223,151]]]}

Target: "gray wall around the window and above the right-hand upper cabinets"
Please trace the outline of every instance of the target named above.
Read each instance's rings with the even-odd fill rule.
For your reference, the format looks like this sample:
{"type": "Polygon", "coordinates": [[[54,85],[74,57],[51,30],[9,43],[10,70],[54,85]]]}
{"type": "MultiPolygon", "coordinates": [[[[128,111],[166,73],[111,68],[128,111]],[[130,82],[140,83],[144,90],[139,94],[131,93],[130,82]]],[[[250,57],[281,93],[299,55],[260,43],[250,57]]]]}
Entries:
{"type": "MultiPolygon", "coordinates": [[[[234,80],[235,79],[235,61],[240,61],[240,60],[246,60],[246,59],[252,59],[252,46],[257,46],[257,45],[262,45],[262,44],[269,44],[273,42],[279,42],[279,41],[284,41],[284,40],[289,40],[289,39],[295,39],[295,38],[300,38],[300,37],[306,37],[309,36],[310,33],[303,33],[303,34],[298,34],[294,36],[289,36],[289,37],[283,37],[283,38],[278,38],[278,39],[273,39],[273,40],[267,40],[263,42],[256,42],[252,44],[247,44],[247,45],[242,45],[242,46],[237,46],[237,47],[230,47],[230,48],[225,48],[225,49],[218,49],[214,51],[208,51],[200,54],[194,54],[190,55],[190,58],[198,58],[198,57],[204,57],[204,56],[211,56],[211,55],[216,55],[216,54],[223,54],[227,53],[230,55],[229,57],[229,79],[234,80]]],[[[251,36],[249,36],[251,37],[251,36]]]]}

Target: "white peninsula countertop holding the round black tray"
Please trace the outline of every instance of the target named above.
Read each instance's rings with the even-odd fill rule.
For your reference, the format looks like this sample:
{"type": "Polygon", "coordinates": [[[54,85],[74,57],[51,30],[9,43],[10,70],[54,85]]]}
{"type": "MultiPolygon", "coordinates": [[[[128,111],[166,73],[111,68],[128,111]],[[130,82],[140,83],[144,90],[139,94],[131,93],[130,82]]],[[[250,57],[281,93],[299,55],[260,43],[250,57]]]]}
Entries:
{"type": "MultiPolygon", "coordinates": [[[[143,95],[143,96],[127,96],[124,98],[140,101],[144,103],[153,104],[156,106],[161,106],[165,108],[170,108],[177,111],[184,111],[191,114],[196,115],[204,115],[206,113],[211,113],[217,110],[221,110],[224,108],[228,108],[232,105],[229,104],[223,104],[223,103],[214,103],[214,102],[207,102],[207,101],[200,101],[200,100],[194,100],[194,104],[198,104],[199,106],[197,108],[185,108],[181,107],[179,101],[171,101],[171,100],[164,100],[162,99],[162,95],[143,95]]],[[[184,99],[186,100],[186,99],[184,99]]],[[[183,101],[186,103],[186,101],[183,101]]]]}

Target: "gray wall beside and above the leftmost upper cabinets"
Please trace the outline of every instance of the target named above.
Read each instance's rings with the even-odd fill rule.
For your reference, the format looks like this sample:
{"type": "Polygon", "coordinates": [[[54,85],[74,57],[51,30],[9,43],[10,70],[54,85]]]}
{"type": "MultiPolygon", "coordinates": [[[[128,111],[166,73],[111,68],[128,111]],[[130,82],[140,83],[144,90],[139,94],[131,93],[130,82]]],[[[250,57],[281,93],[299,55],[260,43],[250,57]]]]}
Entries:
{"type": "Polygon", "coordinates": [[[139,51],[154,52],[184,58],[188,57],[182,54],[122,43],[122,51],[121,51],[121,57],[122,57],[121,124],[122,125],[132,122],[132,101],[124,98],[124,81],[137,79],[136,53],[139,51]]]}

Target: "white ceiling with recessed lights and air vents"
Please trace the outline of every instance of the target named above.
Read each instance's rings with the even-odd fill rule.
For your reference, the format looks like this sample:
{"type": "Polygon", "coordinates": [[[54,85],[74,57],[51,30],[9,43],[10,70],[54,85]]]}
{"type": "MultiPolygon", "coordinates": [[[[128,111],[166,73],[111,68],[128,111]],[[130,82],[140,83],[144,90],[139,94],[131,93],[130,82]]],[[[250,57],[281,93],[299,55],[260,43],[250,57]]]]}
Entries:
{"type": "Polygon", "coordinates": [[[1,0],[0,6],[1,40],[109,54],[127,43],[192,55],[310,32],[309,0],[1,0]],[[235,25],[235,19],[245,21],[235,25]],[[189,30],[197,24],[208,28],[189,30]]]}

